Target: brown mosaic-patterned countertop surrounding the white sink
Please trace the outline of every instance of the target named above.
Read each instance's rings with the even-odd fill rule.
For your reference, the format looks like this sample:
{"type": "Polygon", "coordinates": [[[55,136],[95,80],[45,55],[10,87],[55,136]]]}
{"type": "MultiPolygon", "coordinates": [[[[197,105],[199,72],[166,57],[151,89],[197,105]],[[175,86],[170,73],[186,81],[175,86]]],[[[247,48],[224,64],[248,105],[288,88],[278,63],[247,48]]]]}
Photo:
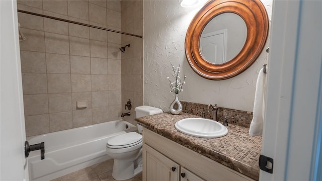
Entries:
{"type": "Polygon", "coordinates": [[[249,128],[228,123],[228,134],[220,138],[197,138],[179,132],[175,123],[198,116],[188,113],[161,113],[135,120],[145,128],[196,151],[255,180],[259,179],[262,136],[252,137],[249,128]]]}

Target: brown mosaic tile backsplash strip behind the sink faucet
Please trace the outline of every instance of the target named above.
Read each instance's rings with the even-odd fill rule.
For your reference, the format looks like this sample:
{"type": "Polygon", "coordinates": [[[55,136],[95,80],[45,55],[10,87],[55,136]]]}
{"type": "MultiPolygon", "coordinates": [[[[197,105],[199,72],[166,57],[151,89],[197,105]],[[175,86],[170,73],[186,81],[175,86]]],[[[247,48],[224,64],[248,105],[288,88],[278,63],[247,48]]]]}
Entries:
{"type": "MultiPolygon", "coordinates": [[[[210,109],[209,113],[207,112],[207,107],[208,105],[203,105],[203,104],[198,104],[198,103],[191,103],[191,102],[186,102],[186,101],[180,101],[182,106],[183,106],[183,112],[189,113],[192,115],[197,115],[197,116],[202,116],[201,112],[205,112],[206,118],[207,119],[212,119],[213,118],[213,111],[210,109]]],[[[214,106],[214,105],[213,105],[214,106]]],[[[228,119],[227,122],[237,124],[239,126],[244,126],[246,128],[249,128],[253,119],[253,112],[248,112],[248,111],[240,111],[240,110],[233,110],[233,109],[228,109],[228,108],[222,108],[218,107],[217,111],[217,118],[218,122],[223,122],[225,117],[228,118],[233,118],[233,119],[228,119]]]]}

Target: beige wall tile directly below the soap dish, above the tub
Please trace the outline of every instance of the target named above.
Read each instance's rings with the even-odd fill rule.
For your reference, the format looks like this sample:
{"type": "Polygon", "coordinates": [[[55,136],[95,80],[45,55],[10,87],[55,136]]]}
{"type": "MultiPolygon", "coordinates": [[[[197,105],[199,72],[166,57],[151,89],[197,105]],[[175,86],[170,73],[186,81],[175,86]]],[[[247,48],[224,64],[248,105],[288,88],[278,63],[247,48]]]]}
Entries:
{"type": "Polygon", "coordinates": [[[92,109],[72,111],[73,128],[91,125],[92,122],[92,109]]]}

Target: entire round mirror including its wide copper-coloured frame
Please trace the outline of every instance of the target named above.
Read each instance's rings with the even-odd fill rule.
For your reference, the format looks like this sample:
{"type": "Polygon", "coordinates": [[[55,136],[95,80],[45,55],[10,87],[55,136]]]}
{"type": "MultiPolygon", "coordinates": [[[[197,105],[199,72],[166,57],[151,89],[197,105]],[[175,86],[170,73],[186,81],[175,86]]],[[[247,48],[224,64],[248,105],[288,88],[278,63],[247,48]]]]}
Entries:
{"type": "Polygon", "coordinates": [[[200,76],[221,80],[238,75],[262,52],[268,16],[259,0],[211,0],[191,21],[186,57],[200,76]]]}

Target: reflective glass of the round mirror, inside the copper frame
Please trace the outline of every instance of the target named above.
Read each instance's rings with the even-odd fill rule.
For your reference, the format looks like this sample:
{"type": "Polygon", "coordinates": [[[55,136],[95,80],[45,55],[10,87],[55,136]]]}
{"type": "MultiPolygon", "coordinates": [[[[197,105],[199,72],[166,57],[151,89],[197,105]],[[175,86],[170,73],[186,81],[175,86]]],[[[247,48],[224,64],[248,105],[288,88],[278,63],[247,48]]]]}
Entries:
{"type": "Polygon", "coordinates": [[[225,63],[240,52],[246,37],[247,27],[240,16],[220,14],[210,20],[201,33],[201,55],[209,63],[225,63]]]}

